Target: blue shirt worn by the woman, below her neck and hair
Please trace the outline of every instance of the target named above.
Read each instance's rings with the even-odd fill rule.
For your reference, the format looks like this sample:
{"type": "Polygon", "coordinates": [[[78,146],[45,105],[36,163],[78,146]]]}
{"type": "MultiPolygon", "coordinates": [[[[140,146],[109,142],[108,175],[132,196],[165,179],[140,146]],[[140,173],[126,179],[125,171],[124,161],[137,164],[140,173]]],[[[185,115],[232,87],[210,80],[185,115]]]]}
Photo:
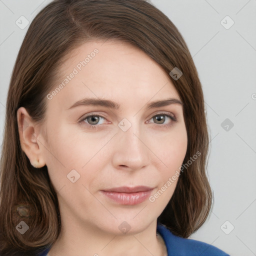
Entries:
{"type": "MultiPolygon", "coordinates": [[[[159,222],[156,231],[165,242],[168,256],[229,256],[211,244],[176,236],[159,222]]],[[[47,248],[38,256],[46,256],[49,250],[50,248],[47,248]]]]}

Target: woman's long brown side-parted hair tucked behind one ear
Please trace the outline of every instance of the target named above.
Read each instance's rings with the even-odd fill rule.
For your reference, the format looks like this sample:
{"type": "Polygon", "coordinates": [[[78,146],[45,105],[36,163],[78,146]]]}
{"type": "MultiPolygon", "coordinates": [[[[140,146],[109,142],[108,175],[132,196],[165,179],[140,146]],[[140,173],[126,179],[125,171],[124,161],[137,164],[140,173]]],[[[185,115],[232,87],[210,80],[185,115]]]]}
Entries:
{"type": "Polygon", "coordinates": [[[202,88],[178,29],[145,0],[54,0],[31,22],[10,80],[0,163],[1,255],[38,252],[39,248],[51,245],[60,232],[56,191],[46,165],[34,168],[22,151],[16,113],[23,106],[34,121],[42,123],[46,95],[61,59],[79,44],[94,39],[129,42],[155,60],[166,73],[174,67],[182,71],[182,76],[172,82],[183,101],[187,130],[183,163],[195,152],[200,152],[200,156],[181,173],[170,201],[157,220],[174,234],[188,237],[209,213],[212,197],[205,174],[208,133],[202,88]],[[22,205],[23,211],[17,211],[22,205]],[[29,226],[23,235],[15,228],[21,220],[29,226]]]}

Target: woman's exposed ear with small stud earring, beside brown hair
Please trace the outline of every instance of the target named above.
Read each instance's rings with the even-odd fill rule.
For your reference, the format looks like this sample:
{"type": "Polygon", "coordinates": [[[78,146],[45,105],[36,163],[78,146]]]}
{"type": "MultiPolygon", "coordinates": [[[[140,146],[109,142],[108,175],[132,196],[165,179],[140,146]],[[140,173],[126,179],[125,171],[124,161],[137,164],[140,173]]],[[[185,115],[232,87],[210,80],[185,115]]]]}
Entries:
{"type": "Polygon", "coordinates": [[[29,158],[31,165],[36,168],[44,166],[39,129],[24,107],[19,107],[17,110],[17,123],[21,149],[29,158]]]}

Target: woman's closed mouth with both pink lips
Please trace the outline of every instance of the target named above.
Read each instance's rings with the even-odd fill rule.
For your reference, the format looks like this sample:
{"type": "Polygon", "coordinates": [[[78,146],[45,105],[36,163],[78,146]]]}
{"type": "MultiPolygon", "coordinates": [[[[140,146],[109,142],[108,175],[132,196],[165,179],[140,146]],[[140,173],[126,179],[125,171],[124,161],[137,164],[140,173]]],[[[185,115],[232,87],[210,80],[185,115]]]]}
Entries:
{"type": "Polygon", "coordinates": [[[134,205],[145,201],[154,188],[148,186],[121,186],[100,190],[111,201],[119,204],[134,205]]]}

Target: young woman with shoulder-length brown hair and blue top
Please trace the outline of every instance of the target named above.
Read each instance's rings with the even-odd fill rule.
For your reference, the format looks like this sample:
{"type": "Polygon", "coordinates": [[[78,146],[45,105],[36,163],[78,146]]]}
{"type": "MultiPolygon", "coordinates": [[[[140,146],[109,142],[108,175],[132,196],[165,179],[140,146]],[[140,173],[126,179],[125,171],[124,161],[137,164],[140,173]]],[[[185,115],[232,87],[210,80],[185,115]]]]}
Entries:
{"type": "Polygon", "coordinates": [[[196,68],[162,12],[52,1],[8,90],[0,255],[227,255],[187,239],[211,207],[207,149],[196,68]]]}

